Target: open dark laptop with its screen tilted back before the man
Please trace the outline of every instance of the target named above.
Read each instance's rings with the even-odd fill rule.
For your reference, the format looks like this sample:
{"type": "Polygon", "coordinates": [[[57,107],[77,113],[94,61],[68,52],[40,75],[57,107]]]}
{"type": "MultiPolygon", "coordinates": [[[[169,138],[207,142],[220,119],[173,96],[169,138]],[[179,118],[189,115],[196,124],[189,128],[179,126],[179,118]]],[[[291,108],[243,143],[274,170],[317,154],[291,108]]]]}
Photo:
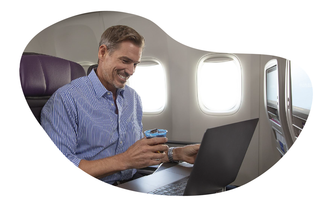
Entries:
{"type": "Polygon", "coordinates": [[[179,163],[116,187],[164,196],[215,194],[235,181],[258,120],[207,129],[194,165],[179,163]]]}

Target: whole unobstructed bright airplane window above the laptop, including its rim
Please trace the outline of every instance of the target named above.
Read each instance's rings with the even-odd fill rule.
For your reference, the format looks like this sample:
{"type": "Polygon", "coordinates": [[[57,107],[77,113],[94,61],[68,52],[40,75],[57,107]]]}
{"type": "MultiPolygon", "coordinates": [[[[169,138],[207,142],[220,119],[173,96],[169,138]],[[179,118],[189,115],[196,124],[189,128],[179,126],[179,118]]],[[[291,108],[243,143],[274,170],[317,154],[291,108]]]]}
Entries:
{"type": "Polygon", "coordinates": [[[237,57],[228,53],[204,56],[198,64],[197,92],[199,107],[205,114],[236,113],[242,98],[241,65],[237,57]]]}

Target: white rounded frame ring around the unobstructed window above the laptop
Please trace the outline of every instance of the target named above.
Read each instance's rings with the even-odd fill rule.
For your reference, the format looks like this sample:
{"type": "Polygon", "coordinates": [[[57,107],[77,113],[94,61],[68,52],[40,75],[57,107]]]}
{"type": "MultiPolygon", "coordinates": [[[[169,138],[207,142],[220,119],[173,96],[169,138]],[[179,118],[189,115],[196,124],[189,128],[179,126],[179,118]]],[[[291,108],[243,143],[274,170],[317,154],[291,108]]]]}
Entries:
{"type": "Polygon", "coordinates": [[[231,53],[212,53],[212,54],[203,56],[202,58],[200,58],[198,65],[197,65],[196,87],[197,87],[198,106],[199,106],[199,109],[204,114],[210,115],[210,116],[230,116],[230,115],[236,114],[240,110],[240,107],[242,104],[242,67],[241,67],[240,60],[238,59],[236,55],[233,55],[231,53]],[[239,79],[240,79],[238,90],[240,94],[238,95],[237,104],[232,109],[227,110],[227,111],[209,110],[204,106],[201,100],[201,92],[200,92],[200,84],[199,84],[200,71],[201,71],[204,61],[206,60],[208,61],[211,59],[215,61],[215,58],[217,60],[224,60],[224,58],[231,58],[233,61],[235,61],[237,65],[237,69],[238,69],[238,74],[239,74],[239,79]]]}

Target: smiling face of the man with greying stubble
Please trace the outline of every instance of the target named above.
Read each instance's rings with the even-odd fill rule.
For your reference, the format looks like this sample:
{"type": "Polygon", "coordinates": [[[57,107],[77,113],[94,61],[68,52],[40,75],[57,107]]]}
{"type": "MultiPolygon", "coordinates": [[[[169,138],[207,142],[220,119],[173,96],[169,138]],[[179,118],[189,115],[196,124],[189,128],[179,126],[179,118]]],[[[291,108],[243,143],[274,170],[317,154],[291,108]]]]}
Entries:
{"type": "Polygon", "coordinates": [[[123,41],[112,55],[108,52],[102,65],[103,78],[108,87],[124,88],[127,79],[133,75],[136,65],[140,63],[142,48],[131,41],[123,41]]]}

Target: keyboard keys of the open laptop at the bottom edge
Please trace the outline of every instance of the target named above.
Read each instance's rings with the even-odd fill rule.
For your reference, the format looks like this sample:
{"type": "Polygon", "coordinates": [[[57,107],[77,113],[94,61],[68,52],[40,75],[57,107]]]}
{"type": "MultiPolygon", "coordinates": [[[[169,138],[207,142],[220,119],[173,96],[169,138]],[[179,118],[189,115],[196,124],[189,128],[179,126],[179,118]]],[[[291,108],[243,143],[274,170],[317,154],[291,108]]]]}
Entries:
{"type": "Polygon", "coordinates": [[[175,181],[171,184],[162,186],[148,194],[161,195],[161,196],[183,196],[188,177],[175,181]]]}

